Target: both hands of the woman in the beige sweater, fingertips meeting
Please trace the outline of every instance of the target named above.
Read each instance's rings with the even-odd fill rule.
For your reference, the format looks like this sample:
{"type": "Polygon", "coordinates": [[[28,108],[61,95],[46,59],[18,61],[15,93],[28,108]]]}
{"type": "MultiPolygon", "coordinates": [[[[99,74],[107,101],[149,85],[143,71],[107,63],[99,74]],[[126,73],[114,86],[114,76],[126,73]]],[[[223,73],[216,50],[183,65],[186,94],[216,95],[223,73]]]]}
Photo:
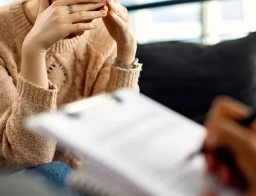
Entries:
{"type": "Polygon", "coordinates": [[[40,0],[35,24],[23,47],[46,54],[57,41],[68,35],[79,35],[97,28],[96,18],[103,19],[106,29],[116,41],[117,59],[126,64],[133,63],[137,43],[127,9],[118,0],[56,0],[51,5],[49,0],[40,0]]]}

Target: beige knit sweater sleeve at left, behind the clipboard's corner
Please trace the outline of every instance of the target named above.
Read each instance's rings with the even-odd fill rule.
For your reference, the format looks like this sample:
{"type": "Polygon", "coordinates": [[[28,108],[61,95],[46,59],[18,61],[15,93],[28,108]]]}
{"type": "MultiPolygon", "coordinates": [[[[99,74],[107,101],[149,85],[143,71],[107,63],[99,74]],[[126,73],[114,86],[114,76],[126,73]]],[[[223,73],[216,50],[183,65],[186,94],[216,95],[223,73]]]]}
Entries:
{"type": "Polygon", "coordinates": [[[22,166],[51,162],[56,143],[29,130],[27,117],[56,110],[57,88],[43,89],[22,77],[17,85],[0,58],[0,150],[7,161],[22,166]]]}

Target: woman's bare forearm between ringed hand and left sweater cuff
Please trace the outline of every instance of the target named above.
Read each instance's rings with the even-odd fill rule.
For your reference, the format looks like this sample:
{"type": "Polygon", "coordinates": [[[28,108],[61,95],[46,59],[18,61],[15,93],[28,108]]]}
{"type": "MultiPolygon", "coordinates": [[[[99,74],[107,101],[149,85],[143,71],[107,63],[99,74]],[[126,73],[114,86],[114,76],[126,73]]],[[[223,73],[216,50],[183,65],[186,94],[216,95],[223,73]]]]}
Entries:
{"type": "Polygon", "coordinates": [[[45,54],[27,48],[23,47],[20,76],[44,89],[49,89],[45,54]]]}

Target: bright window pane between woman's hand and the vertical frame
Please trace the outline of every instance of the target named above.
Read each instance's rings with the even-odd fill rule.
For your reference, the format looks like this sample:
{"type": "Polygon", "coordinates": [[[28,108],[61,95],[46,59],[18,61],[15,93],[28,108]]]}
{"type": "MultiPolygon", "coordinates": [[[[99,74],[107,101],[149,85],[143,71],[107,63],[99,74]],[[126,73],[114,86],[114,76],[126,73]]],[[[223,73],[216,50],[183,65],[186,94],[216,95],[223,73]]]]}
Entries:
{"type": "Polygon", "coordinates": [[[140,43],[201,37],[201,3],[138,10],[130,16],[140,43]]]}

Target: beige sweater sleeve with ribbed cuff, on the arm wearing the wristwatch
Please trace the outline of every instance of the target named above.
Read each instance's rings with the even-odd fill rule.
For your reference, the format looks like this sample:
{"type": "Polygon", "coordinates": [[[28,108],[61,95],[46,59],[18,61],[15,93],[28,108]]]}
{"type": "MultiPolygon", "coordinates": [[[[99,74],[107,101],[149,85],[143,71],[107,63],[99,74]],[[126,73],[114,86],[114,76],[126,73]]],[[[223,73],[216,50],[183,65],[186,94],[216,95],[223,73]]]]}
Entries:
{"type": "Polygon", "coordinates": [[[133,89],[139,92],[139,75],[142,64],[135,69],[121,69],[114,67],[116,50],[106,59],[94,85],[93,94],[113,92],[118,89],[133,89]]]}

